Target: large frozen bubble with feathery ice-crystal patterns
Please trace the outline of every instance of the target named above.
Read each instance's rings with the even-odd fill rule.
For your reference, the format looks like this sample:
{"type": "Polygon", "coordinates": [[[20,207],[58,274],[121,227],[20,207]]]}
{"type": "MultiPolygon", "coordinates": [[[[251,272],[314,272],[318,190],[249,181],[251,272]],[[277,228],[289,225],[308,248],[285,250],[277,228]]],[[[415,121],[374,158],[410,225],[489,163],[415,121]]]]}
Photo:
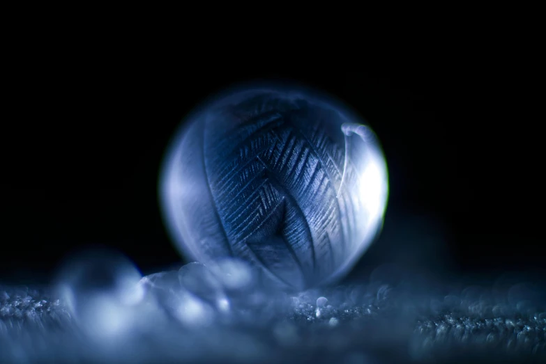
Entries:
{"type": "Polygon", "coordinates": [[[388,195],[370,127],[301,87],[238,88],[203,104],[174,136],[161,181],[165,223],[188,258],[238,258],[298,290],[349,270],[388,195]]]}

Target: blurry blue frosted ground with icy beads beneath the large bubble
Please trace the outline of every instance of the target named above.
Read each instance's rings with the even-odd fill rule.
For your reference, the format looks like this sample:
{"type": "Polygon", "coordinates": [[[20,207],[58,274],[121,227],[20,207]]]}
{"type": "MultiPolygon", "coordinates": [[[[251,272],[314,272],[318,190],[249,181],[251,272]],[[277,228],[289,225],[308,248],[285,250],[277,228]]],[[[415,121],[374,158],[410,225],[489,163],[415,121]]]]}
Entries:
{"type": "Polygon", "coordinates": [[[105,264],[49,289],[0,286],[0,362],[546,360],[543,291],[513,279],[457,287],[383,266],[296,294],[264,291],[237,261],[141,277],[120,260],[90,280],[105,264]]]}

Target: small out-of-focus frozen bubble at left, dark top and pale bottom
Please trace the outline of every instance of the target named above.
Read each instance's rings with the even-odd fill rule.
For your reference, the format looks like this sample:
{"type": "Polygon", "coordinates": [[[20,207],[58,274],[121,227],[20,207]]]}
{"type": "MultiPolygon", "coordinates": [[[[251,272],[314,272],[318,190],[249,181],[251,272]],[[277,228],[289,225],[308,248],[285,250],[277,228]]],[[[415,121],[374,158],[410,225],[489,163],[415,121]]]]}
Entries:
{"type": "Polygon", "coordinates": [[[142,301],[142,278],[123,255],[105,249],[70,257],[56,279],[56,291],[79,327],[96,338],[112,338],[131,329],[142,301]]]}

